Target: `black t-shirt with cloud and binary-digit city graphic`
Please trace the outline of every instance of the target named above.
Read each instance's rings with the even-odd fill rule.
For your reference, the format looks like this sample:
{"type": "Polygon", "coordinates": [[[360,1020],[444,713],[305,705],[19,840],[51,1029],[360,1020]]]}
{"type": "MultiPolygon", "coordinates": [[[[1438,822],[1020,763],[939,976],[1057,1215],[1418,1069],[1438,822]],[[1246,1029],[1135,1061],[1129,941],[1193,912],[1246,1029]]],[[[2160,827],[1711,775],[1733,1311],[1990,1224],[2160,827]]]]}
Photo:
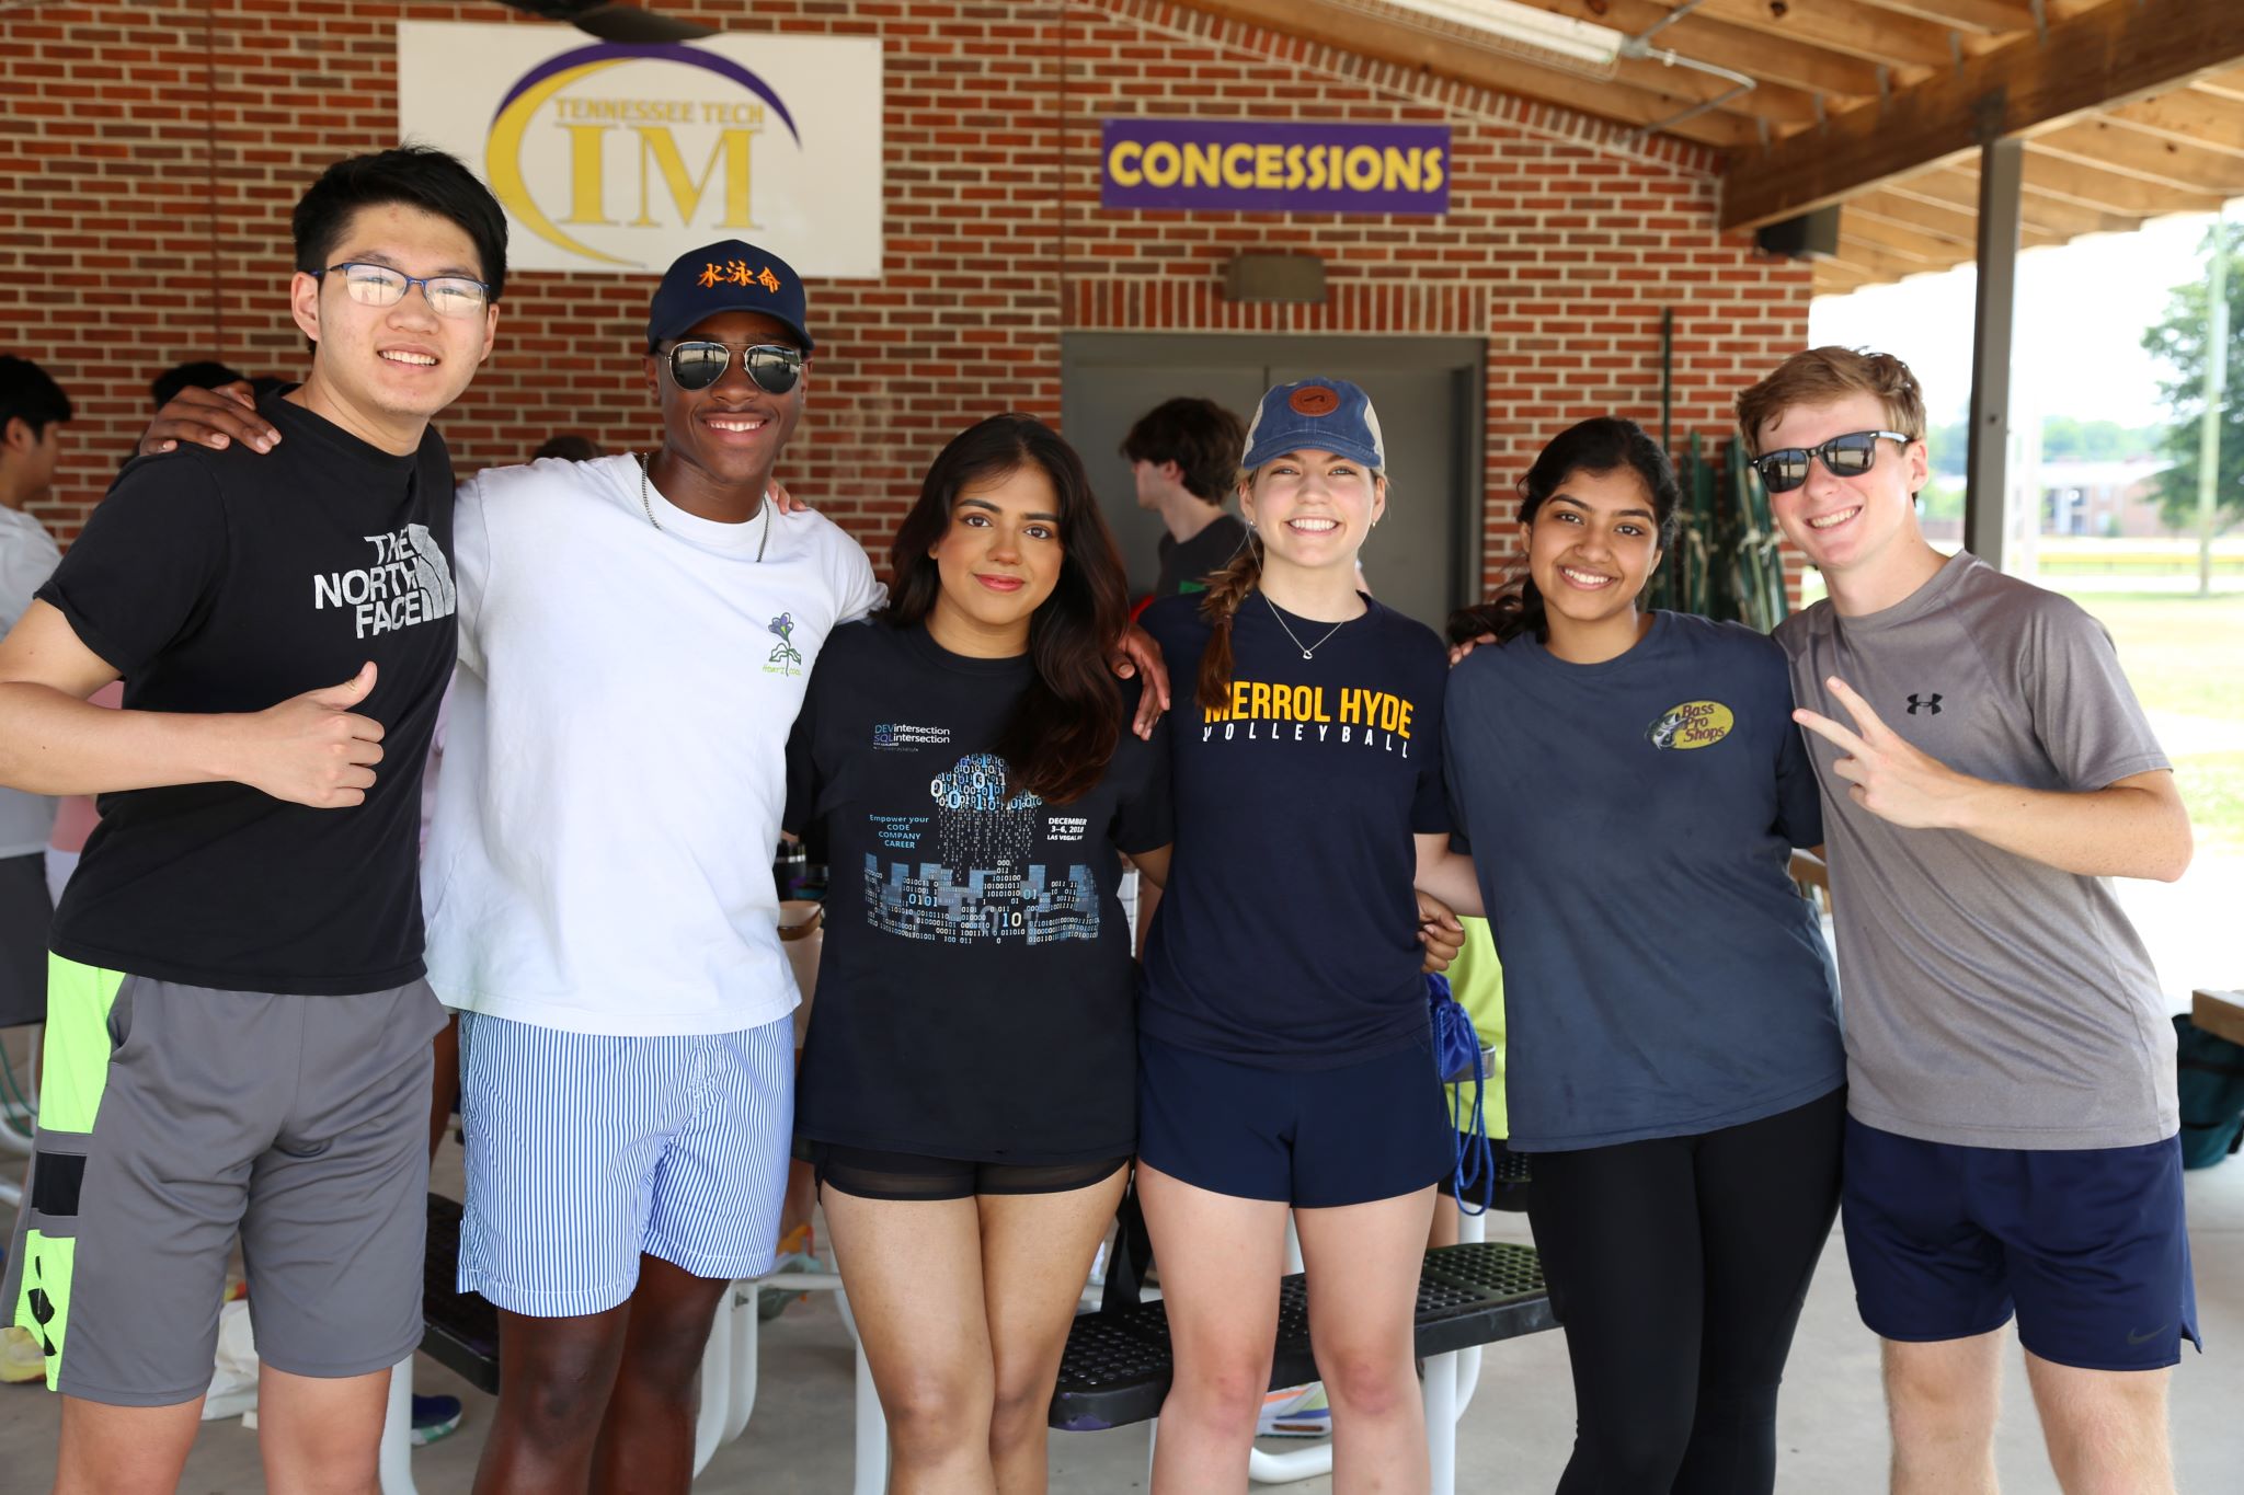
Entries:
{"type": "Polygon", "coordinates": [[[788,742],[788,829],[826,849],[826,948],[799,1136],[987,1163],[1138,1143],[1118,852],[1169,843],[1167,726],[1126,722],[1097,787],[1048,805],[992,753],[1032,675],[925,628],[826,639],[788,742]]]}

